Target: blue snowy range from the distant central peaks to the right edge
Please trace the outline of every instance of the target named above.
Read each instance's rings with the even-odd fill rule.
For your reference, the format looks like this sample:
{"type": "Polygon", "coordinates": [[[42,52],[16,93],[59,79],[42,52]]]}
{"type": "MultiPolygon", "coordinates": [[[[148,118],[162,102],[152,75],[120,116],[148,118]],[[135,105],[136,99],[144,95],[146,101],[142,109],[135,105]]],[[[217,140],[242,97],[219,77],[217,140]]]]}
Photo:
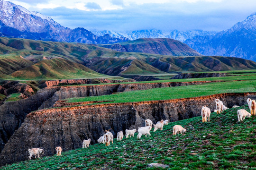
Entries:
{"type": "Polygon", "coordinates": [[[110,34],[113,37],[172,38],[188,44],[202,55],[238,57],[256,61],[256,13],[221,32],[140,30],[128,32],[92,31],[94,34],[110,34]]]}

